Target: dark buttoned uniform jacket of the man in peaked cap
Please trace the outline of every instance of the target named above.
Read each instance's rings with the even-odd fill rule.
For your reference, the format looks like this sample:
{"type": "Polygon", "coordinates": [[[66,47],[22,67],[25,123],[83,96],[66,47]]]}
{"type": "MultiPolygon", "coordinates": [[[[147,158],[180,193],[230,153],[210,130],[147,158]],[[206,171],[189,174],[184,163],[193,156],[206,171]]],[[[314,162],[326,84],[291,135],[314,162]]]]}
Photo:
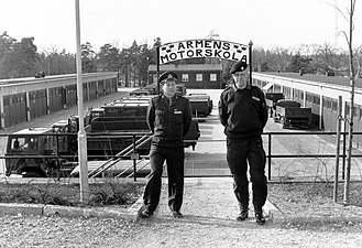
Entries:
{"type": "Polygon", "coordinates": [[[160,147],[183,148],[184,137],[191,125],[191,106],[188,99],[175,95],[152,98],[147,109],[147,125],[153,132],[152,143],[160,147]]]}

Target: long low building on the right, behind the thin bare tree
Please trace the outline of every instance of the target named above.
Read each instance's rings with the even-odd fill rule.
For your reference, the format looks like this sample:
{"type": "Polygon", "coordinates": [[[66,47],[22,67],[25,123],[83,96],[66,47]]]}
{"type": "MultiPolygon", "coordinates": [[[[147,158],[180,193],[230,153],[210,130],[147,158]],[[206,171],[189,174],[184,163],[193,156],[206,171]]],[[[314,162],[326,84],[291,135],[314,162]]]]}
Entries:
{"type": "MultiPolygon", "coordinates": [[[[293,99],[303,107],[311,108],[312,125],[321,130],[337,131],[338,98],[342,98],[342,118],[350,118],[351,86],[349,78],[325,75],[266,74],[253,73],[253,84],[264,91],[284,93],[286,99],[293,99]]],[[[362,131],[362,79],[358,78],[354,89],[353,131],[362,131]]],[[[348,123],[342,121],[342,131],[348,131],[348,123]]],[[[361,136],[355,136],[359,147],[361,136]]]]}

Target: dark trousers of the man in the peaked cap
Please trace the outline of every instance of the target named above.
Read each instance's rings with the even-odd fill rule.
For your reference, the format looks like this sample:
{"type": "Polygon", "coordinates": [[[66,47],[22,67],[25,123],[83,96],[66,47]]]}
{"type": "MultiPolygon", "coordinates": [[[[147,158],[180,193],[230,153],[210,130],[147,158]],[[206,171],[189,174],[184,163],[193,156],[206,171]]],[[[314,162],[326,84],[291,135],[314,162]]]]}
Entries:
{"type": "Polygon", "coordinates": [[[184,148],[151,145],[151,174],[143,194],[144,206],[154,212],[160,202],[163,164],[166,161],[168,176],[168,207],[178,212],[184,195],[184,148]]]}

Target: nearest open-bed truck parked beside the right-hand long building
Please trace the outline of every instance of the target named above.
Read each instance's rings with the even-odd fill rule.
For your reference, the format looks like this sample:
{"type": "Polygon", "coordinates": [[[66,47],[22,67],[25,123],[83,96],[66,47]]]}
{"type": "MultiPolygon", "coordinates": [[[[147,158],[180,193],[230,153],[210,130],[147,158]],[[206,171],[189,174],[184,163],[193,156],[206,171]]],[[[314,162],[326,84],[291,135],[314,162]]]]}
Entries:
{"type": "Polygon", "coordinates": [[[295,100],[281,99],[276,103],[274,121],[281,122],[283,128],[309,128],[311,108],[301,108],[295,100]]]}

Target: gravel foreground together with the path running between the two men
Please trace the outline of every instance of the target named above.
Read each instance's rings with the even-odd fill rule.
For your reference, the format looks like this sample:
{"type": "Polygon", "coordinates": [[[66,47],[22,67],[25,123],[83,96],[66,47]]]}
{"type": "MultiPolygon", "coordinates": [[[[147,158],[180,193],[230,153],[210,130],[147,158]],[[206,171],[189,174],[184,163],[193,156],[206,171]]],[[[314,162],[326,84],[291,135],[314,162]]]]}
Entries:
{"type": "Polygon", "coordinates": [[[240,223],[230,179],[195,180],[185,185],[185,217],[174,219],[165,190],[151,219],[44,216],[0,217],[0,247],[358,247],[362,225],[288,226],[240,223]],[[215,182],[215,181],[213,181],[215,182]]]}

